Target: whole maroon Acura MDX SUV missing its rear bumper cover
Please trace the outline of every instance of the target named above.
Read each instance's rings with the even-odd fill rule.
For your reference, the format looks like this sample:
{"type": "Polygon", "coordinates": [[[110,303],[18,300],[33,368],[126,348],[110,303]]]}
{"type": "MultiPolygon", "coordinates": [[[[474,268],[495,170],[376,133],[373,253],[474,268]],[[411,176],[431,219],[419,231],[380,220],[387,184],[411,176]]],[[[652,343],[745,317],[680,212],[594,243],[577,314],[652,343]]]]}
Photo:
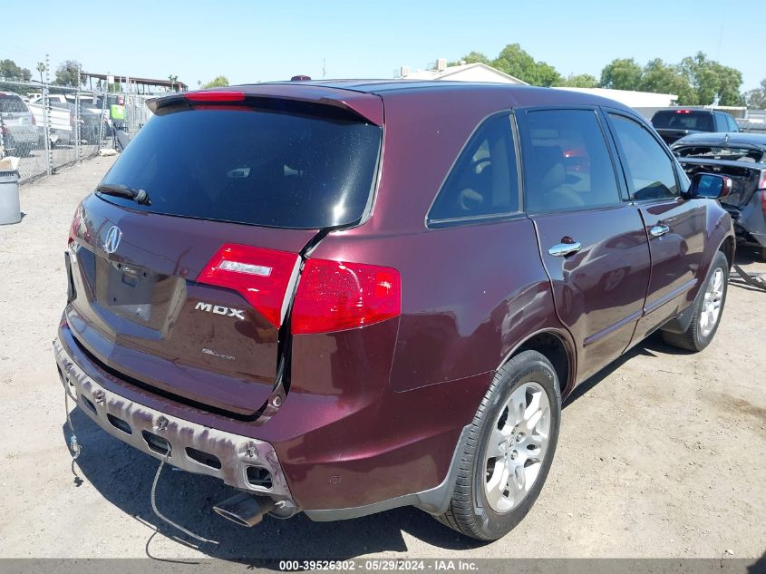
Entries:
{"type": "Polygon", "coordinates": [[[104,431],[236,487],[238,524],[413,505],[497,539],[578,383],[715,335],[732,182],[690,184],[622,104],[344,81],[150,107],[74,215],[55,359],[104,431]]]}

